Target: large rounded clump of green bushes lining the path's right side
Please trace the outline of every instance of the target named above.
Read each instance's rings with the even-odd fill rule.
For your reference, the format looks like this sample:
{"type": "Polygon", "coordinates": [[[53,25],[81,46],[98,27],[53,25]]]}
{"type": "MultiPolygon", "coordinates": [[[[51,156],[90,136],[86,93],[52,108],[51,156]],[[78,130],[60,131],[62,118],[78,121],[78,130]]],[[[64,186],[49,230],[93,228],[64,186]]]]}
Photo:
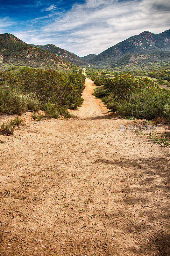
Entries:
{"type": "Polygon", "coordinates": [[[170,91],[161,89],[148,78],[120,73],[113,79],[106,79],[94,95],[121,116],[147,120],[157,116],[170,117],[170,91]]]}

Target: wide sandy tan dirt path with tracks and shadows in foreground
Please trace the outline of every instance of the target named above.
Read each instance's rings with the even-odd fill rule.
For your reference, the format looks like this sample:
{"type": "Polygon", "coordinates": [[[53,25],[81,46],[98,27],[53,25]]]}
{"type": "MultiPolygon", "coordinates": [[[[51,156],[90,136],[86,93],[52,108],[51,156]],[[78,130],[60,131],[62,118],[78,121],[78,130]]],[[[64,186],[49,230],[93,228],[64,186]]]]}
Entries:
{"type": "Polygon", "coordinates": [[[93,89],[76,119],[0,135],[0,255],[170,255],[169,148],[120,132],[93,89]]]}

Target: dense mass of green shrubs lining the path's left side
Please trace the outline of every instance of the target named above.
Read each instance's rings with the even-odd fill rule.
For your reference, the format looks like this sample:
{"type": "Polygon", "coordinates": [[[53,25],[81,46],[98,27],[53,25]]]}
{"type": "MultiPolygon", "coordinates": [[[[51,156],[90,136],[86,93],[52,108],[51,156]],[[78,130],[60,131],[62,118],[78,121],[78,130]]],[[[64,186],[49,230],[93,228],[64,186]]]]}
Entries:
{"type": "Polygon", "coordinates": [[[66,76],[52,69],[23,68],[16,74],[0,72],[0,113],[21,115],[28,109],[35,112],[41,102],[42,105],[50,102],[63,115],[67,108],[77,109],[82,104],[84,82],[81,73],[66,76]]]}

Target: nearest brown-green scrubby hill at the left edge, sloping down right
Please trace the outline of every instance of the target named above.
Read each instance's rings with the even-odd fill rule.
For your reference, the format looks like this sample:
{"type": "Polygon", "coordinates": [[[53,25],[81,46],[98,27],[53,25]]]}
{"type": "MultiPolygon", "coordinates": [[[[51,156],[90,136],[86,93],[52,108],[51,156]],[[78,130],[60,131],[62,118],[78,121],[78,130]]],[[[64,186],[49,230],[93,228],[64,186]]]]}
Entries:
{"type": "Polygon", "coordinates": [[[78,67],[55,54],[26,44],[16,36],[7,33],[0,34],[0,64],[1,67],[16,65],[56,70],[78,70],[78,67]]]}

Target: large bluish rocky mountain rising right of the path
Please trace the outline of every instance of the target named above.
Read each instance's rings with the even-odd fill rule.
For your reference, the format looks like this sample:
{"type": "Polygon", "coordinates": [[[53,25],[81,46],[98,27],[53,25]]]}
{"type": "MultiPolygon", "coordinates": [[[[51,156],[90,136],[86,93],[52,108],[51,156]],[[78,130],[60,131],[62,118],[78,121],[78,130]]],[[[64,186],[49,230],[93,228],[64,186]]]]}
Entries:
{"type": "Polygon", "coordinates": [[[139,35],[131,36],[96,55],[90,60],[90,64],[92,63],[99,67],[114,66],[117,60],[123,57],[127,59],[127,56],[130,54],[145,55],[144,58],[146,59],[146,56],[153,52],[165,50],[170,51],[170,29],[160,34],[143,31],[139,35]]]}

